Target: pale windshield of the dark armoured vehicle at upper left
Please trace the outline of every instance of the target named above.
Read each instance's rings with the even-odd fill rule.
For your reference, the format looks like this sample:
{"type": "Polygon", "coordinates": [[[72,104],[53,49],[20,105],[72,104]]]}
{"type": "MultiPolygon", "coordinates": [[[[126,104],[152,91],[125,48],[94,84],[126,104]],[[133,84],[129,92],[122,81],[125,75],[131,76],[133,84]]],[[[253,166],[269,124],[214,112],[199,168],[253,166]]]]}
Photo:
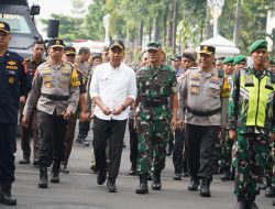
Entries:
{"type": "Polygon", "coordinates": [[[30,34],[31,29],[23,15],[0,13],[0,20],[8,22],[12,33],[30,34]]]}

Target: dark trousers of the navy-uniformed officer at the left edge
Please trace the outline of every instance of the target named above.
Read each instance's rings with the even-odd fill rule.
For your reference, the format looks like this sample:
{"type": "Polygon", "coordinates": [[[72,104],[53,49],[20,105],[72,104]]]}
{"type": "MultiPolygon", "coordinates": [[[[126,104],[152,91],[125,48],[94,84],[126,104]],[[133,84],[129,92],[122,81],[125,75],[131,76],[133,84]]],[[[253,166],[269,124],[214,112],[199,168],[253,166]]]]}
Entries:
{"type": "Polygon", "coordinates": [[[0,184],[14,182],[14,153],[16,152],[16,123],[0,123],[0,184]]]}

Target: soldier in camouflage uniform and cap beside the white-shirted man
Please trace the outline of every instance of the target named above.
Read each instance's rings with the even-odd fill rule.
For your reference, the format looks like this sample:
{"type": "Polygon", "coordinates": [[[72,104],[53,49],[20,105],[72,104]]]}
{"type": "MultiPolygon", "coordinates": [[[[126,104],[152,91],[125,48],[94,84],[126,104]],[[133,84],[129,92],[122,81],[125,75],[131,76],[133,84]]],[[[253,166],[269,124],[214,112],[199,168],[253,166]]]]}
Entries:
{"type": "Polygon", "coordinates": [[[161,172],[165,167],[165,147],[170,125],[175,130],[177,122],[177,80],[175,72],[161,63],[161,44],[147,45],[148,65],[136,73],[138,99],[138,172],[140,185],[136,194],[146,194],[147,173],[153,154],[153,190],[161,190],[161,172]],[[168,106],[170,99],[170,106],[168,106]],[[172,108],[172,110],[169,109],[172,108]]]}

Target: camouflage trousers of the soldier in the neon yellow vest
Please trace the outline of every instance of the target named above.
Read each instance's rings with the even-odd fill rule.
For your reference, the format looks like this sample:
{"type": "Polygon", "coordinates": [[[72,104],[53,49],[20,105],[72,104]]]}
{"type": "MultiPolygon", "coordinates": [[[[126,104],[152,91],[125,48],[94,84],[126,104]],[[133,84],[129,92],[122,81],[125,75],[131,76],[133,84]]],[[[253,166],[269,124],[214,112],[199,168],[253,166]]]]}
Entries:
{"type": "Polygon", "coordinates": [[[238,133],[232,151],[235,169],[234,194],[238,198],[258,194],[258,180],[264,176],[270,140],[264,134],[238,133]]]}

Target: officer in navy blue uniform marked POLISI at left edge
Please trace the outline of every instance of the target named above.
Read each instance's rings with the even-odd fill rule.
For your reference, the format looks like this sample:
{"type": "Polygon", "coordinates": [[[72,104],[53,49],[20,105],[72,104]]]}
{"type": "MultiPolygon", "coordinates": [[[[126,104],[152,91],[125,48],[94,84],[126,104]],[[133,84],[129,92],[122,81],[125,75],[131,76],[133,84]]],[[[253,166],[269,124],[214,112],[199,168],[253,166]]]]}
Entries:
{"type": "Polygon", "coordinates": [[[11,185],[14,182],[19,102],[25,99],[32,85],[23,58],[7,50],[10,40],[10,25],[0,21],[0,201],[15,206],[11,185]]]}

